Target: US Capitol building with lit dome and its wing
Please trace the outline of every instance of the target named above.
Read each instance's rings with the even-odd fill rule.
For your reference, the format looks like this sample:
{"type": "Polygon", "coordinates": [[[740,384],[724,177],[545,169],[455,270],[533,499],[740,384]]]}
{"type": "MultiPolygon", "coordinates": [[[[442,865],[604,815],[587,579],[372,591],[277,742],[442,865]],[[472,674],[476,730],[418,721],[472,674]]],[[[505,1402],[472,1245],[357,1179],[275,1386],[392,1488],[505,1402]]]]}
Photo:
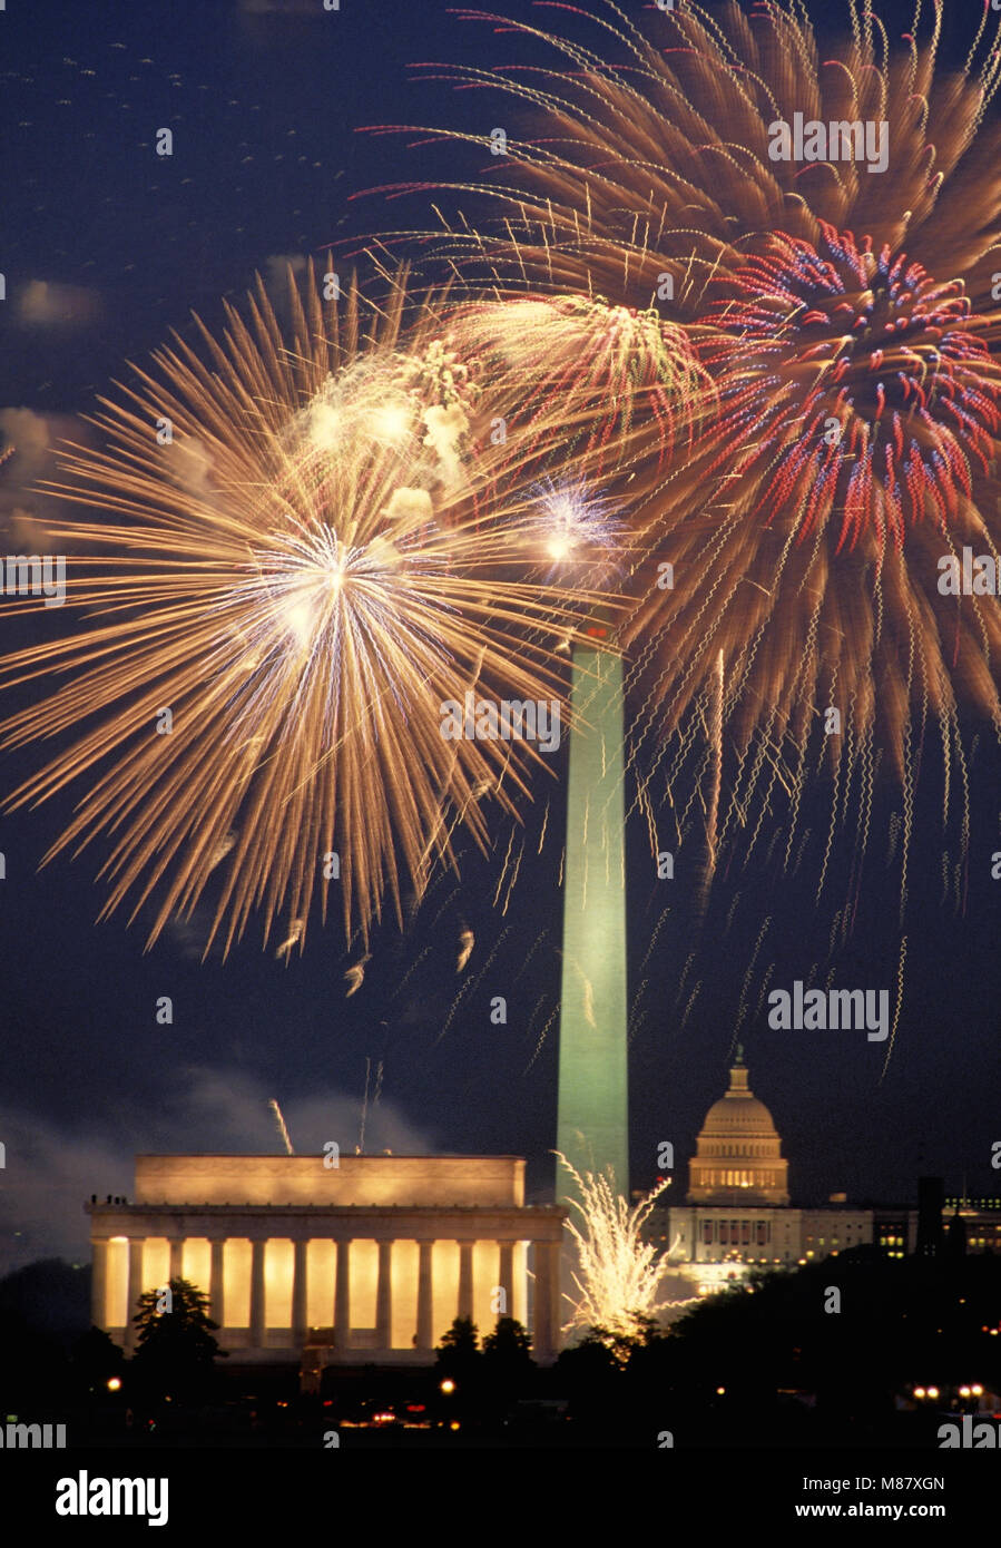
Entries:
{"type": "Polygon", "coordinates": [[[789,1203],[787,1173],[772,1115],[752,1093],[738,1048],[730,1088],[698,1136],[685,1204],[650,1217],[648,1234],[668,1251],[671,1272],[712,1294],[755,1266],[795,1266],[873,1241],[896,1257],[914,1251],[917,1211],[849,1209],[843,1194],[798,1209],[789,1203]]]}

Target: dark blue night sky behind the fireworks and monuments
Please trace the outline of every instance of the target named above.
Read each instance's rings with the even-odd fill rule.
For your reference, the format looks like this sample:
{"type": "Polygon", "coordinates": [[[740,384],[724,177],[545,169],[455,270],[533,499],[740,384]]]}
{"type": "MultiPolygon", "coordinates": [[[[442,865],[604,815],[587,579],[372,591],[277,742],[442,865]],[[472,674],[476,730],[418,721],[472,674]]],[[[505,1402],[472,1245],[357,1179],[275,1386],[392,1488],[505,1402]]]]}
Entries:
{"type": "MultiPolygon", "coordinates": [[[[535,14],[526,0],[507,0],[506,9],[535,14]]],[[[979,11],[948,8],[947,57],[965,56],[961,9],[979,11]]],[[[908,25],[910,8],[880,11],[891,31],[908,25]]],[[[563,11],[540,19],[582,26],[563,11]]],[[[432,198],[365,190],[487,170],[469,146],[362,132],[388,122],[484,132],[504,121],[497,99],[456,93],[433,71],[412,70],[415,62],[490,65],[526,51],[483,23],[456,22],[436,0],[342,0],[337,12],[306,0],[9,0],[0,40],[0,430],[17,447],[0,471],[5,553],[31,551],[36,525],[57,509],[36,489],[54,471],[53,443],[88,433],[76,416],[93,412],[113,379],[127,381],[127,362],[142,362],[172,328],[193,339],[192,310],[217,328],[221,297],[238,300],[255,271],[275,279],[286,260],[320,257],[331,245],[359,254],[364,271],[367,238],[427,226],[432,198]],[[153,149],[162,125],[173,130],[172,158],[153,149]]],[[[506,99],[503,113],[512,115],[506,99]]],[[[467,207],[475,212],[475,201],[467,207]]],[[[413,245],[404,251],[421,255],[413,245]]],[[[0,627],[14,649],[68,624],[70,613],[53,608],[0,627]]],[[[0,712],[17,703],[3,695],[0,712]]],[[[834,955],[856,824],[849,811],[835,833],[817,902],[829,776],[808,796],[811,839],[795,873],[783,872],[781,833],[769,859],[781,814],[770,827],[766,819],[749,861],[736,834],[701,929],[698,848],[678,850],[676,879],[658,881],[645,824],[633,814],[633,1187],[651,1184],[658,1142],[670,1139],[681,1167],[668,1201],[681,1201],[684,1161],[726,1088],[740,1036],[752,1090],[783,1138],[794,1201],[822,1201],[835,1189],[851,1201],[914,1201],[919,1173],[941,1173],[950,1189],[965,1178],[970,1194],[998,1190],[990,1146],[1001,1138],[1001,882],[990,879],[990,856],[1001,848],[1001,759],[989,728],[967,726],[969,738],[978,729],[969,872],[956,885],[958,824],[944,833],[930,735],[904,926],[899,864],[888,862],[897,797],[887,783],[852,927],[834,955]],[[888,989],[893,1005],[902,933],[904,1005],[888,1063],[887,1045],[865,1033],[767,1028],[769,968],[772,988],[791,988],[818,964],[815,983],[834,969],[835,988],[888,989]]],[[[0,791],[26,777],[43,751],[0,759],[0,791]]],[[[124,910],[94,924],[104,901],[94,882],[101,839],[74,861],[37,870],[70,817],[71,796],[3,816],[0,1271],[54,1252],[84,1257],[82,1200],[130,1194],[136,1152],[280,1150],[269,1098],[282,1104],[299,1152],[336,1139],[351,1153],[367,1074],[367,1150],[523,1155],[529,1197],[551,1197],[565,757],[563,748],[549,760],[552,777],[538,776],[523,830],[512,837],[511,820],[498,817],[487,859],[466,848],[461,878],[439,876],[402,932],[393,920],[376,932],[351,998],[345,972],[362,947],[345,946],[336,918],[325,929],[313,921],[305,955],[288,963],[275,960],[275,940],[261,950],[260,929],[227,960],[215,954],[203,963],[206,904],[144,952],[149,915],[132,927],[124,910]],[[506,858],[521,845],[509,889],[506,858]],[[467,927],[475,949],[456,974],[467,927]],[[172,1026],[156,1023],[161,995],[173,1000],[172,1026]],[[490,1023],[495,995],[507,998],[506,1026],[490,1023]]],[[[667,831],[668,813],[664,824],[667,831]]]]}

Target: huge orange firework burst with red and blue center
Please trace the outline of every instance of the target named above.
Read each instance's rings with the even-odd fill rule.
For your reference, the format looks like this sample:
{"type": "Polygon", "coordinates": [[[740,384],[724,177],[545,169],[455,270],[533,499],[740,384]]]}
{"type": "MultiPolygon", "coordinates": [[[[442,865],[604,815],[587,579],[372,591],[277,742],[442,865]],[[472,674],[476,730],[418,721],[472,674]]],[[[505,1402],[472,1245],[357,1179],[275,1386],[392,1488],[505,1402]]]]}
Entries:
{"type": "Polygon", "coordinates": [[[719,839],[750,824],[753,847],[752,797],[766,810],[786,791],[786,858],[822,751],[834,805],[851,789],[863,808],[862,844],[876,766],[893,769],[907,856],[928,724],[965,842],[961,712],[1001,729],[996,601],[938,585],[942,556],[996,559],[1001,540],[1001,132],[986,121],[1001,46],[975,11],[951,73],[941,5],[894,40],[854,0],[823,51],[798,3],[685,5],[642,25],[616,5],[577,11],[600,48],[466,11],[554,50],[557,68],[450,71],[500,87],[526,124],[490,181],[464,184],[503,221],[449,231],[452,260],[512,289],[654,308],[688,330],[712,382],[667,472],[656,437],[631,437],[622,492],[647,562],[620,636],[627,683],[639,740],[667,732],[662,760],[679,738],[673,769],[693,726],[716,728],[704,769],[726,737],[719,839]],[[774,155],[797,115],[831,127],[815,159],[774,155]],[[845,155],[851,124],[885,125],[885,170],[845,155]]]}

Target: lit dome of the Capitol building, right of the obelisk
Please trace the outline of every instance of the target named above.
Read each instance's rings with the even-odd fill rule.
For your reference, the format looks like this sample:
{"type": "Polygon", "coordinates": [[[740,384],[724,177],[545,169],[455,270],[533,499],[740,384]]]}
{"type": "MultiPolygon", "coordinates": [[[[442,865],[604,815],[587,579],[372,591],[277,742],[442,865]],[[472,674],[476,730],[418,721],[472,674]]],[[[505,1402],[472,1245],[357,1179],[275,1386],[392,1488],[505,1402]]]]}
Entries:
{"type": "Polygon", "coordinates": [[[787,1172],[772,1115],[749,1090],[738,1048],[730,1088],[709,1108],[688,1166],[688,1203],[787,1204],[787,1172]]]}

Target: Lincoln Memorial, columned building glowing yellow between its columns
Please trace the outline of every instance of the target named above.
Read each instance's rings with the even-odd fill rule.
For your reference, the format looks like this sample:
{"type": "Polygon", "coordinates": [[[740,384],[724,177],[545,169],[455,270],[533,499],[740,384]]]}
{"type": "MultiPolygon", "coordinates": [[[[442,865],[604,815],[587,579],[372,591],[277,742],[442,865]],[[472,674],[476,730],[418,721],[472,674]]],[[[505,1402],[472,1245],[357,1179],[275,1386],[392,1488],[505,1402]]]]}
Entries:
{"type": "Polygon", "coordinates": [[[565,1211],[515,1156],[136,1156],[135,1203],[91,1203],[93,1322],[135,1344],[138,1297],[183,1277],[248,1361],[427,1364],[456,1316],[560,1341],[565,1211]]]}

